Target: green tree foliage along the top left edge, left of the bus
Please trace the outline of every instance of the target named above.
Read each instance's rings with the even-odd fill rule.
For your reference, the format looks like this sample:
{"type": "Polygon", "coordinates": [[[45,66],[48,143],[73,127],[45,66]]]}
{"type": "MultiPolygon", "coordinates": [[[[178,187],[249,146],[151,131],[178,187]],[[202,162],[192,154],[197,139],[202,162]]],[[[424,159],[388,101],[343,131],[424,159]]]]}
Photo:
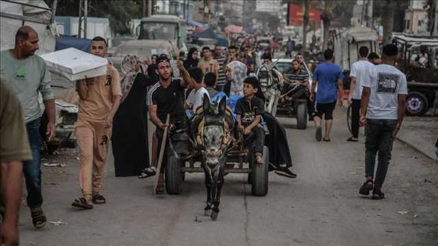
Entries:
{"type": "MultiPolygon", "coordinates": [[[[128,34],[131,19],[142,16],[142,0],[88,0],[88,16],[110,19],[110,26],[116,34],[128,34]]],[[[79,0],[59,0],[57,16],[78,16],[79,0]]]]}

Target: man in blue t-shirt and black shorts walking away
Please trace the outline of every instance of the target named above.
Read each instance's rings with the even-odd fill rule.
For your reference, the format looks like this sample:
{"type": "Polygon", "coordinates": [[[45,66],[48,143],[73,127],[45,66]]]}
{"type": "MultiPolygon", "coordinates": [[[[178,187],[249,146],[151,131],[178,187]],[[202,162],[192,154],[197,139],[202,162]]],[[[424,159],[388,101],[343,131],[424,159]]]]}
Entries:
{"type": "Polygon", "coordinates": [[[318,64],[313,73],[313,83],[311,88],[310,99],[316,101],[316,110],[314,122],[316,126],[315,138],[318,142],[322,139],[321,122],[324,114],[325,136],[324,141],[330,142],[330,131],[333,123],[333,110],[335,110],[336,99],[339,106],[342,107],[342,69],[337,64],[333,64],[333,51],[326,49],[324,51],[326,62],[318,64]],[[315,98],[315,88],[318,85],[318,94],[315,98]]]}

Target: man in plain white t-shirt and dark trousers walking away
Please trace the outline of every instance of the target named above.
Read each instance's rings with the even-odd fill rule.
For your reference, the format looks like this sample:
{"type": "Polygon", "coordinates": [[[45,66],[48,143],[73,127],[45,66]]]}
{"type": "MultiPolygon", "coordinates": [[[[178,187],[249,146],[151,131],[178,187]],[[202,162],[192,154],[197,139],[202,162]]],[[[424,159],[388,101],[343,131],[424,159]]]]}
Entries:
{"type": "Polygon", "coordinates": [[[357,142],[359,136],[359,114],[361,109],[362,84],[365,79],[370,79],[370,74],[374,64],[368,61],[368,47],[359,48],[359,61],[351,65],[350,95],[348,104],[351,105],[351,132],[352,136],[347,139],[349,142],[357,142]]]}

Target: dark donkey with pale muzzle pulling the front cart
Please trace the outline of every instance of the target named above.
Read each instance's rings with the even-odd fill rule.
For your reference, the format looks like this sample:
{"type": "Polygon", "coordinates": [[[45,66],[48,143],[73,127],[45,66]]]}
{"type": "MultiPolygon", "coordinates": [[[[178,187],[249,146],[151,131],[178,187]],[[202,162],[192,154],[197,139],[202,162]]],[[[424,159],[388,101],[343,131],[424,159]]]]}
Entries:
{"type": "Polygon", "coordinates": [[[233,117],[227,112],[227,98],[211,104],[207,95],[203,98],[203,116],[198,124],[196,142],[201,148],[201,166],[205,173],[207,206],[204,215],[213,221],[218,219],[220,190],[224,184],[225,164],[231,143],[230,129],[233,117]]]}

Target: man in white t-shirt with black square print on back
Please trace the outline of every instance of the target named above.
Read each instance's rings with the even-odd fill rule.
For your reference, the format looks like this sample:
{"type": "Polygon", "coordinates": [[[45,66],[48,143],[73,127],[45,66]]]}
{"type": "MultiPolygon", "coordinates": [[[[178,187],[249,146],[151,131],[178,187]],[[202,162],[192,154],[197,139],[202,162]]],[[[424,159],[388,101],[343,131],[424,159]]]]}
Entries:
{"type": "Polygon", "coordinates": [[[393,65],[397,58],[396,45],[383,47],[382,63],[374,66],[371,79],[363,81],[361,124],[366,127],[365,177],[359,189],[361,195],[383,199],[382,185],[391,160],[394,137],[402,126],[407,95],[406,76],[393,65]],[[374,176],[376,155],[378,167],[374,176]],[[373,183],[373,177],[376,177],[373,183]]]}

